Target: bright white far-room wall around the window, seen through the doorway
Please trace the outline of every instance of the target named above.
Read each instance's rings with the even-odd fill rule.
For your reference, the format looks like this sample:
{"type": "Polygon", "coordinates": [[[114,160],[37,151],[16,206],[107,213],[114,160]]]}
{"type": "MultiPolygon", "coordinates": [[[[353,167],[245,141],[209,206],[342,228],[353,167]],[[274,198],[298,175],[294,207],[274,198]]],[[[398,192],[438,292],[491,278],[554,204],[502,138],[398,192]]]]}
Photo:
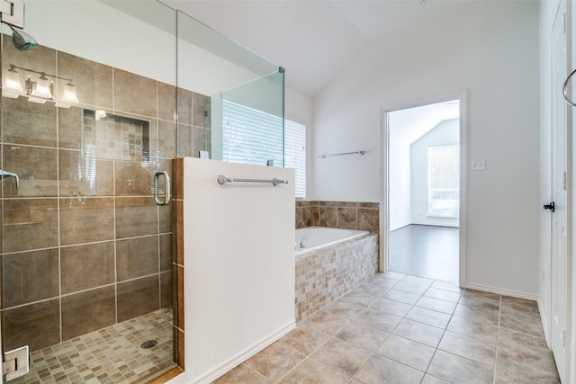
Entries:
{"type": "Polygon", "coordinates": [[[443,121],[410,146],[410,203],[413,224],[458,227],[458,219],[428,217],[428,147],[459,144],[459,136],[459,121],[443,121]]]}

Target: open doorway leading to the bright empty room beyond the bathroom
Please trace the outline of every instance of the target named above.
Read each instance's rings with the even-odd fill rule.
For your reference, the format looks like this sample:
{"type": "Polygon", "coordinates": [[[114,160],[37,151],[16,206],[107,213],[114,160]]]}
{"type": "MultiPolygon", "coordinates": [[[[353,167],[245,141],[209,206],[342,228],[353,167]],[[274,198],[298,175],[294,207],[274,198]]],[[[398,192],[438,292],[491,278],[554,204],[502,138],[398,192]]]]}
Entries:
{"type": "Polygon", "coordinates": [[[389,108],[383,270],[459,283],[464,94],[389,108]]]}

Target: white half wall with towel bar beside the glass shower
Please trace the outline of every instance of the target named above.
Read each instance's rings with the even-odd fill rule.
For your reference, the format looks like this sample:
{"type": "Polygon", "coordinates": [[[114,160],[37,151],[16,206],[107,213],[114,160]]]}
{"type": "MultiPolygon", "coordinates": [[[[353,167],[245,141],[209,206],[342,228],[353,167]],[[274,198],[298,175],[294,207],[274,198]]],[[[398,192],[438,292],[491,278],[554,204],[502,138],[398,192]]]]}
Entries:
{"type": "Polygon", "coordinates": [[[211,382],[293,329],[294,228],[292,169],[184,158],[185,372],[171,382],[211,382]]]}

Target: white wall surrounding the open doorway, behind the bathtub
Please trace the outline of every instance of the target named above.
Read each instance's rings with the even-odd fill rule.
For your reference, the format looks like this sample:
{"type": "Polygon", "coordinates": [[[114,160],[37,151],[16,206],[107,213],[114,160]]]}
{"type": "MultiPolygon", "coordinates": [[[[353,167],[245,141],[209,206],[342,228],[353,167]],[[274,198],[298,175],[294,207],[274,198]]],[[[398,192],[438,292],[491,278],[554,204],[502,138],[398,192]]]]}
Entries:
{"type": "Polygon", "coordinates": [[[466,284],[536,298],[538,4],[463,2],[373,40],[314,100],[314,200],[380,201],[381,108],[467,89],[466,284]]]}

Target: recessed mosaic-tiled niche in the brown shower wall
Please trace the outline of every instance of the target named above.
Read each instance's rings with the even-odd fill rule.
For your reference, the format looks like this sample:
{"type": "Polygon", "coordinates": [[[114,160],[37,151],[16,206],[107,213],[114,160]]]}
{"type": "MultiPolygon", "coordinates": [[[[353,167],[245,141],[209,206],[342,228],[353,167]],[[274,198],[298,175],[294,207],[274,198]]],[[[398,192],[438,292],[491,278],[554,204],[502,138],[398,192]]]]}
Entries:
{"type": "Polygon", "coordinates": [[[150,122],[84,110],[83,151],[88,158],[149,161],[150,122]]]}

